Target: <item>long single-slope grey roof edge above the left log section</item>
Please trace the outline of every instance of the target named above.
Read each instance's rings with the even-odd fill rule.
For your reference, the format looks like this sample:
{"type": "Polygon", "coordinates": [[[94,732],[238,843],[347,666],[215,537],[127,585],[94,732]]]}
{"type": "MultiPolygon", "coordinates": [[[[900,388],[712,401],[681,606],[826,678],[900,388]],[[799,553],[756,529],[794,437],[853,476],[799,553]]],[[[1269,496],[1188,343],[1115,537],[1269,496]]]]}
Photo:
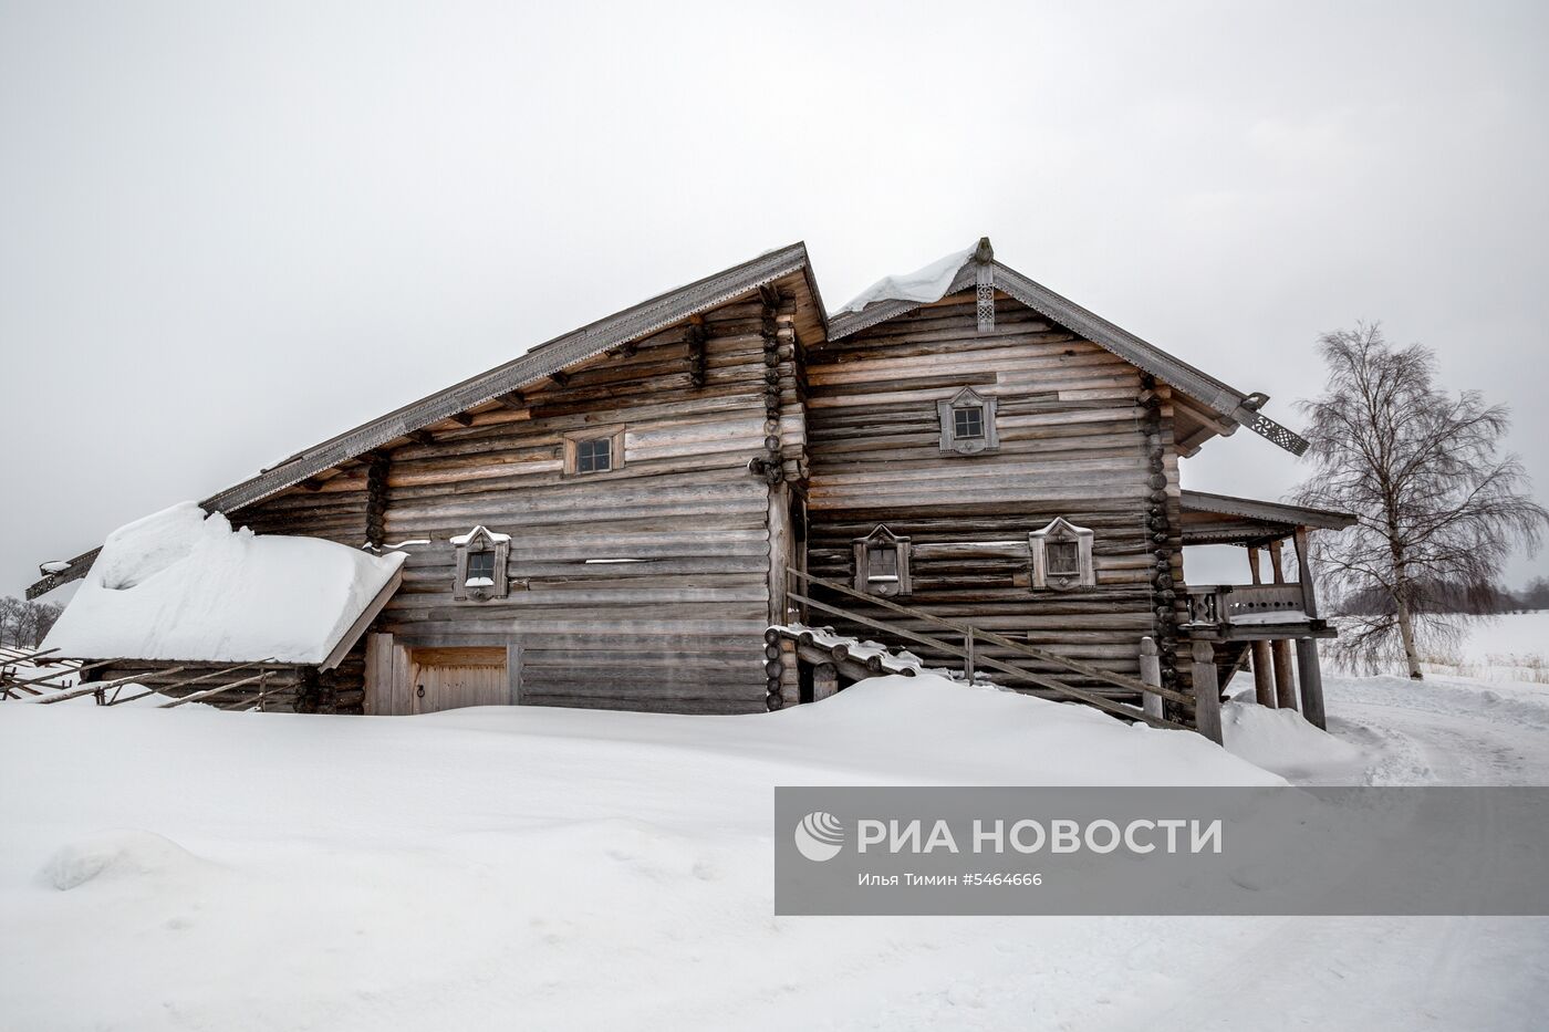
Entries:
{"type": "MultiPolygon", "coordinates": [[[[714,276],[694,280],[686,287],[678,287],[677,290],[641,301],[606,319],[589,322],[578,330],[556,336],[503,366],[452,384],[445,390],[437,390],[400,409],[393,409],[321,445],[313,445],[276,466],[259,471],[257,476],[248,477],[242,483],[209,496],[200,502],[200,507],[206,511],[226,513],[243,505],[251,505],[288,487],[294,487],[324,470],[331,470],[341,462],[381,448],[400,437],[406,437],[432,423],[440,423],[485,401],[493,401],[511,390],[520,390],[550,373],[601,355],[610,347],[637,341],[792,273],[802,273],[807,288],[812,291],[818,319],[821,321],[823,298],[818,293],[818,284],[813,280],[812,268],[807,262],[807,245],[798,240],[784,248],[765,251],[756,259],[733,265],[714,276]]],[[[37,598],[60,584],[84,576],[91,569],[91,562],[99,552],[101,549],[93,549],[77,555],[62,570],[48,573],[31,584],[26,589],[26,597],[37,598]]]]}

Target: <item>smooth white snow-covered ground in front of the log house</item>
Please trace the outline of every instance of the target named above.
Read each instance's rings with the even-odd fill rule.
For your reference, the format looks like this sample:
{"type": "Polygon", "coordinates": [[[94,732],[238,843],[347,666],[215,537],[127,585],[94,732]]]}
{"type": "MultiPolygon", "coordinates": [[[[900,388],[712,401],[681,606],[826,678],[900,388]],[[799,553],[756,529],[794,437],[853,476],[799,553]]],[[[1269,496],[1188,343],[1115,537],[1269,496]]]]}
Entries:
{"type": "MultiPolygon", "coordinates": [[[[1238,686],[1238,685],[1235,685],[1238,686]]],[[[1228,707],[1295,781],[1549,784],[1549,688],[1228,707]]],[[[1549,919],[774,917],[776,784],[1266,784],[936,677],[748,717],[0,707],[5,1029],[1537,1029],[1549,919]]]]}

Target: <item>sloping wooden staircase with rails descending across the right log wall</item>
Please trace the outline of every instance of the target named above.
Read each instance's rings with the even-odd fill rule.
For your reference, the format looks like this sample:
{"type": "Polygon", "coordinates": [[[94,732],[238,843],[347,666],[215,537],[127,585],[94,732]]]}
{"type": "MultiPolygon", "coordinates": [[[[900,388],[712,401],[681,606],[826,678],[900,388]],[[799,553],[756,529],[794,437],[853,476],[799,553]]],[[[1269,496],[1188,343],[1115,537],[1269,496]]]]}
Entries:
{"type": "Polygon", "coordinates": [[[866,595],[847,584],[813,576],[812,573],[788,570],[788,575],[787,600],[799,606],[804,614],[816,611],[846,623],[860,624],[877,632],[880,635],[878,642],[883,645],[894,646],[889,638],[902,638],[905,642],[903,648],[925,646],[932,655],[945,654],[954,657],[963,663],[963,673],[970,680],[976,674],[984,673],[1016,691],[1064,702],[1081,702],[1111,716],[1125,721],[1139,721],[1157,728],[1188,730],[1187,716],[1183,714],[1193,711],[1194,700],[1180,691],[1152,685],[1126,674],[1104,671],[1089,663],[1035,648],[1025,642],[1015,642],[984,628],[945,620],[914,606],[902,606],[888,598],[866,595]],[[821,589],[829,600],[813,598],[813,589],[821,589]],[[846,604],[838,604],[835,598],[843,598],[846,604]],[[863,614],[857,611],[857,604],[866,604],[883,612],[877,615],[863,614]],[[925,628],[925,631],[919,628],[925,628]],[[1058,671],[1058,674],[1050,673],[1050,669],[1058,671]],[[1083,686],[1070,683],[1072,674],[1084,682],[1083,686]],[[1097,688],[1089,685],[1097,685],[1097,688]],[[1111,697],[1111,694],[1143,700],[1149,699],[1151,702],[1142,708],[1111,697]],[[1157,705],[1159,702],[1173,703],[1171,710],[1174,716],[1160,716],[1168,708],[1157,705]]]}

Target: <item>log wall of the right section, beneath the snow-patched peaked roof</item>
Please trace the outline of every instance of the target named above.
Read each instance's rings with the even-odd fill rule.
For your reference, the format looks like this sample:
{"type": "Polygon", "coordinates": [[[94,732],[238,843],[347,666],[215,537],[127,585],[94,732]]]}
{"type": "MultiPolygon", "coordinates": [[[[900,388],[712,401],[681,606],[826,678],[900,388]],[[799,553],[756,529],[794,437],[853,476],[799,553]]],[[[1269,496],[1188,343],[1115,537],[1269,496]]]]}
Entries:
{"type": "Polygon", "coordinates": [[[807,381],[813,573],[850,583],[853,539],[886,524],[912,541],[912,593],[897,601],[1139,673],[1140,638],[1168,621],[1157,603],[1173,607],[1159,547],[1182,583],[1165,386],[1008,298],[981,335],[973,294],[824,344],[807,381]],[[936,403],[962,387],[999,400],[999,451],[940,451],[936,403]],[[1056,516],[1095,531],[1095,587],[1030,589],[1027,535],[1056,516]]]}

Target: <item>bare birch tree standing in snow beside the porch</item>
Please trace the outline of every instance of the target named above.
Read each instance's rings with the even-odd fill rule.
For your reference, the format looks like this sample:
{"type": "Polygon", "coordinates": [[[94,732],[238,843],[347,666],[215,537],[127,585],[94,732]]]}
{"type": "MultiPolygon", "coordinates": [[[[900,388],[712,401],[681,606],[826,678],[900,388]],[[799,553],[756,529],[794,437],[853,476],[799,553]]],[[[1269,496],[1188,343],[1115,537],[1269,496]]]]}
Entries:
{"type": "Polygon", "coordinates": [[[1326,333],[1323,397],[1303,401],[1317,471],[1298,490],[1304,505],[1354,513],[1338,535],[1314,535],[1318,580],[1331,597],[1386,600],[1340,628],[1338,652],[1376,669],[1399,659],[1419,680],[1422,652],[1459,635],[1433,604],[1442,592],[1493,589],[1518,545],[1535,550],[1549,511],[1527,494],[1504,406],[1475,390],[1436,386],[1436,356],[1394,349],[1379,325],[1326,333]]]}

